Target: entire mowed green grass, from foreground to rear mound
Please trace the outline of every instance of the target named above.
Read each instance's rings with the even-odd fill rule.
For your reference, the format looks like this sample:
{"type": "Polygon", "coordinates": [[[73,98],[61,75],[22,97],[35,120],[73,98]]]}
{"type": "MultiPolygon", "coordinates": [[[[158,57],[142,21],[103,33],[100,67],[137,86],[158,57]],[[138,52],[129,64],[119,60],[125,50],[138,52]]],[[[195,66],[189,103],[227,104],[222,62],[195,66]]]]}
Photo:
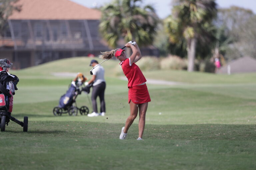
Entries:
{"type": "MultiPolygon", "coordinates": [[[[77,57],[10,71],[20,78],[12,116],[28,116],[29,127],[22,132],[10,122],[0,132],[1,169],[256,169],[256,74],[143,72],[148,79],[182,84],[148,83],[152,101],[144,140],[136,140],[138,118],[120,140],[129,105],[127,82],[114,73],[118,61],[103,64],[105,117],[52,113],[74,78],[53,73],[90,78],[89,61],[77,57]]],[[[91,111],[88,97],[79,95],[77,106],[91,111]]]]}

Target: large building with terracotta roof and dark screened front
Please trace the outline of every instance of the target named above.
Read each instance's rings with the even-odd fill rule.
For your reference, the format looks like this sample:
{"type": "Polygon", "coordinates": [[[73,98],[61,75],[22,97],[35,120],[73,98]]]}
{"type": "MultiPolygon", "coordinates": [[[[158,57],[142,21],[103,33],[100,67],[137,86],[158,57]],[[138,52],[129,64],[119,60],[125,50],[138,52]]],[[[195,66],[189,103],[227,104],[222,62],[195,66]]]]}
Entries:
{"type": "Polygon", "coordinates": [[[0,56],[14,69],[109,50],[98,32],[101,12],[69,0],[20,0],[8,18],[0,56]]]}

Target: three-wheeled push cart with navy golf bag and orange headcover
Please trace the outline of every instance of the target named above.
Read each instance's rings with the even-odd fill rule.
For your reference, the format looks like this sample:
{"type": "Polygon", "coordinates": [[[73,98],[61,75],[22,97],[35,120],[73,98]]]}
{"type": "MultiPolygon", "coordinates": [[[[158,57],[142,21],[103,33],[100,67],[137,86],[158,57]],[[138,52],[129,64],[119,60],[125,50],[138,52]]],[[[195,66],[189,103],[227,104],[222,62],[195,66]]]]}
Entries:
{"type": "Polygon", "coordinates": [[[82,91],[87,93],[88,97],[91,85],[87,85],[86,87],[80,89],[86,80],[87,78],[84,77],[82,73],[77,74],[76,78],[71,82],[66,94],[60,97],[59,106],[53,108],[53,115],[61,116],[62,114],[68,113],[69,116],[77,116],[78,111],[81,115],[87,115],[89,113],[89,108],[87,106],[78,108],[76,105],[76,98],[82,93],[82,91]]]}

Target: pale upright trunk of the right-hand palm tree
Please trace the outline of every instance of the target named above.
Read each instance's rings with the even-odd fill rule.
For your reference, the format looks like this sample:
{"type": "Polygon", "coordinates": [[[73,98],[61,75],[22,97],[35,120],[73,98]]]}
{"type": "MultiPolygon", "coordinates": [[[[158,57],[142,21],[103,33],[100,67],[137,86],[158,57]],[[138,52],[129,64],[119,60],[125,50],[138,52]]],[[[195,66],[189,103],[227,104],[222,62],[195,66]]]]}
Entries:
{"type": "Polygon", "coordinates": [[[196,55],[196,43],[197,39],[194,37],[188,42],[187,52],[188,52],[188,72],[194,71],[194,61],[196,55]]]}

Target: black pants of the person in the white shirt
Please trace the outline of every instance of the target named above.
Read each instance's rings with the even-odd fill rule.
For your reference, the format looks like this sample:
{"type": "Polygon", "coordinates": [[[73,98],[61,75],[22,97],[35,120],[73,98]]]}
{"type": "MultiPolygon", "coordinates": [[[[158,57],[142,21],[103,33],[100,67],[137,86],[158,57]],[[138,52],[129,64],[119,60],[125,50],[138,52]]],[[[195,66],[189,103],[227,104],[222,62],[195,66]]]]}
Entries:
{"type": "Polygon", "coordinates": [[[96,98],[100,97],[100,112],[106,112],[104,93],[106,89],[106,83],[102,82],[96,86],[92,86],[92,108],[93,112],[98,113],[96,98]]]}

